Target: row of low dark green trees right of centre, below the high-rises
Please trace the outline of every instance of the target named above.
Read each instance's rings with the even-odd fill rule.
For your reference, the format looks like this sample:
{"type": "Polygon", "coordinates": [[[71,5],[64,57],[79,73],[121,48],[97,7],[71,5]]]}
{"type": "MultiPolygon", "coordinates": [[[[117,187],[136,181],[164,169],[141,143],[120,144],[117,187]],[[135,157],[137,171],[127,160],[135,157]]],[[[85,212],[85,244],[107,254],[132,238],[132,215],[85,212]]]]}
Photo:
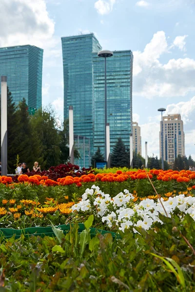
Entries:
{"type": "MultiPolygon", "coordinates": [[[[91,164],[95,165],[96,162],[103,162],[104,156],[98,147],[96,153],[92,156],[91,164]]],[[[145,165],[145,158],[143,158],[136,151],[133,152],[133,168],[141,168],[142,165],[145,165]]],[[[174,164],[170,165],[167,161],[164,161],[164,170],[172,168],[173,170],[182,170],[189,169],[190,166],[195,167],[195,161],[192,159],[191,155],[187,158],[186,156],[178,155],[174,164]]],[[[111,153],[111,167],[130,167],[130,153],[129,148],[126,148],[122,139],[118,138],[116,145],[113,147],[111,153]]],[[[155,157],[154,154],[152,157],[148,157],[148,168],[150,169],[161,169],[162,161],[155,157]]]]}

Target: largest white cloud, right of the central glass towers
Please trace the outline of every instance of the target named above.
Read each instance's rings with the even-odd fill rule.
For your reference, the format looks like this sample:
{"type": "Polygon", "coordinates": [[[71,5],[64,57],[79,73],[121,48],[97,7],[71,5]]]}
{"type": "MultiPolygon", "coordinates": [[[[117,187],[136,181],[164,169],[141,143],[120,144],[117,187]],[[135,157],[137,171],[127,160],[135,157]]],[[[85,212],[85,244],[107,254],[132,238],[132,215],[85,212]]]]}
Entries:
{"type": "Polygon", "coordinates": [[[134,55],[134,95],[146,98],[185,96],[195,91],[195,60],[170,59],[162,64],[160,57],[168,52],[163,31],[154,34],[143,52],[134,55]]]}

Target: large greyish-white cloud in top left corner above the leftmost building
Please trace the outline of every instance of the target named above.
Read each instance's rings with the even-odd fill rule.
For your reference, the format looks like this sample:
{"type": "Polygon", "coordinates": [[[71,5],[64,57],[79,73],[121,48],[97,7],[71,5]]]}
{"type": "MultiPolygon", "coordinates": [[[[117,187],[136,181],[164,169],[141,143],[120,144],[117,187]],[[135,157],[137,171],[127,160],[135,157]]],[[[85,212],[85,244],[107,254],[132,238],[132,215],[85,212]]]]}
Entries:
{"type": "Polygon", "coordinates": [[[0,15],[1,47],[23,44],[43,47],[53,37],[55,24],[45,0],[0,0],[0,15]]]}

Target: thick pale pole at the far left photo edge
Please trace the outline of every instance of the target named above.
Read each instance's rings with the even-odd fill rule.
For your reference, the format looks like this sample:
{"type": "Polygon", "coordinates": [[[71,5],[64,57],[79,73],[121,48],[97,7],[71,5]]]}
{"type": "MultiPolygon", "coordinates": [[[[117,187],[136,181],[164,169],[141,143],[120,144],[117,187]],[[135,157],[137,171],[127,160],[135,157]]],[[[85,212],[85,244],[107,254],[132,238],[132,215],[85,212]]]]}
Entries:
{"type": "Polygon", "coordinates": [[[1,76],[1,175],[7,175],[7,77],[1,76]]]}

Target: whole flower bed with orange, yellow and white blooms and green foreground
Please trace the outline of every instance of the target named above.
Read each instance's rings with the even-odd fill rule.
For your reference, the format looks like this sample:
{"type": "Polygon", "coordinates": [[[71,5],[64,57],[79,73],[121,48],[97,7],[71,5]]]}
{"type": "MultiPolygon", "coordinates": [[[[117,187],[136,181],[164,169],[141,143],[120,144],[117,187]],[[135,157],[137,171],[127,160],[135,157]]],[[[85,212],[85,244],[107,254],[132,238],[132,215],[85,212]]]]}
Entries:
{"type": "Polygon", "coordinates": [[[0,229],[7,235],[12,228],[16,237],[0,237],[0,286],[10,292],[195,291],[195,173],[148,175],[160,200],[145,171],[57,181],[23,175],[18,183],[1,177],[0,229]],[[24,236],[40,230],[42,236],[43,227],[49,236],[24,236]]]}

